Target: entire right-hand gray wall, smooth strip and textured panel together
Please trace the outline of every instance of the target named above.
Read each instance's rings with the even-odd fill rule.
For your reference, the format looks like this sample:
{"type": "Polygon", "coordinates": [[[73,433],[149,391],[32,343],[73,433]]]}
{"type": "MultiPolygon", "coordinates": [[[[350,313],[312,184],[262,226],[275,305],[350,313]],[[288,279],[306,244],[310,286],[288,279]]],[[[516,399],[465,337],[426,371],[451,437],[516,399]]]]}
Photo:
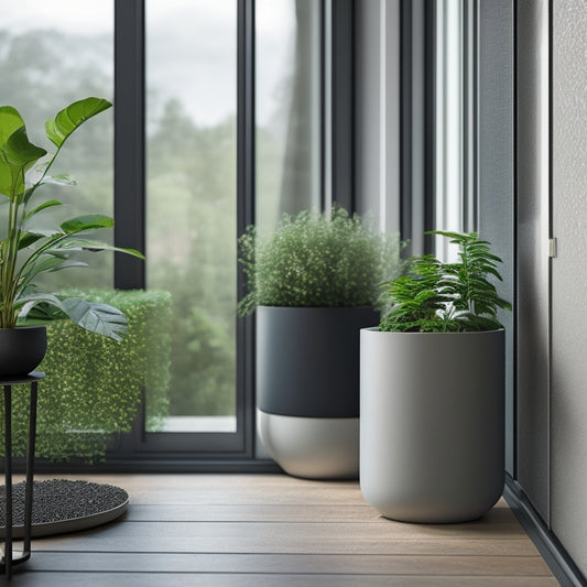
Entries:
{"type": "Polygon", "coordinates": [[[587,575],[587,2],[518,9],[518,481],[587,575]]]}

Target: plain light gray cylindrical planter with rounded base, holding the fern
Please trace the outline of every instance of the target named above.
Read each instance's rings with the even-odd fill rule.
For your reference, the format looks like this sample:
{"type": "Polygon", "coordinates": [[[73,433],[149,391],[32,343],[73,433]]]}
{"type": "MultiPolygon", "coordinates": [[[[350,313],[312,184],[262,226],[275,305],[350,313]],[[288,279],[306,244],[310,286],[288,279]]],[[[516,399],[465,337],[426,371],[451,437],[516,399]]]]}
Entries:
{"type": "Polygon", "coordinates": [[[382,515],[475,520],[504,482],[504,333],[361,330],[360,483],[382,515]]]}

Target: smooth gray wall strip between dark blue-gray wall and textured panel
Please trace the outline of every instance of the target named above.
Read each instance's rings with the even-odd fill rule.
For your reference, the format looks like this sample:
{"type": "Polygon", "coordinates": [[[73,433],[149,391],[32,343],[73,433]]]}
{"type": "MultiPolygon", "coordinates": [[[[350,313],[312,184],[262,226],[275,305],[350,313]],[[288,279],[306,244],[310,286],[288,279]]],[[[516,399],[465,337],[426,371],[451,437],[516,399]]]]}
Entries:
{"type": "Polygon", "coordinates": [[[518,480],[550,517],[548,0],[518,2],[518,480]]]}

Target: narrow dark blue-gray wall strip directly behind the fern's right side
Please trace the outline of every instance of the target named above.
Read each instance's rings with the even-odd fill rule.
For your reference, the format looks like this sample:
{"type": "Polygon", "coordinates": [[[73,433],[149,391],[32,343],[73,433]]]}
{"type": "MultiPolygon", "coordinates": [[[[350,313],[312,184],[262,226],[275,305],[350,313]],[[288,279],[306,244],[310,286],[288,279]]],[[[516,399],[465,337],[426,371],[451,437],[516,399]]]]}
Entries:
{"type": "MultiPolygon", "coordinates": [[[[500,294],[514,296],[513,209],[513,6],[512,0],[479,3],[478,224],[503,260],[500,294]]],[[[513,474],[513,314],[506,326],[506,468],[513,474]]]]}

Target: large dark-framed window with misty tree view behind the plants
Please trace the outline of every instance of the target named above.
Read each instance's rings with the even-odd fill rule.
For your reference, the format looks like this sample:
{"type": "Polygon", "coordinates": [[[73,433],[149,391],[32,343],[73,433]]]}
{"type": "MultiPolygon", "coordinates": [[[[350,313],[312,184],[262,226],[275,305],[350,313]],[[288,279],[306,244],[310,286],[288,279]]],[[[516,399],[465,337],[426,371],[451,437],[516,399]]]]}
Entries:
{"type": "Polygon", "coordinates": [[[338,156],[351,150],[351,86],[328,89],[333,72],[351,81],[348,39],[335,39],[330,19],[337,13],[350,28],[351,7],[21,0],[3,8],[0,99],[22,110],[30,130],[81,97],[115,102],[61,159],[79,178],[68,211],[112,214],[113,242],[146,254],[145,262],[100,256],[97,271],[61,272],[46,286],[146,287],[173,297],[170,417],[150,428],[144,405],[107,467],[165,458],[185,470],[189,459],[253,457],[254,320],[236,316],[237,237],[250,222],[268,230],[283,211],[325,206],[337,175],[330,157],[333,169],[344,161],[341,185],[351,192],[349,159],[330,152],[334,142],[338,156]],[[336,42],[344,51],[329,46],[336,42]],[[341,126],[330,124],[335,101],[347,108],[341,126]],[[341,128],[346,138],[336,141],[341,128]]]}

